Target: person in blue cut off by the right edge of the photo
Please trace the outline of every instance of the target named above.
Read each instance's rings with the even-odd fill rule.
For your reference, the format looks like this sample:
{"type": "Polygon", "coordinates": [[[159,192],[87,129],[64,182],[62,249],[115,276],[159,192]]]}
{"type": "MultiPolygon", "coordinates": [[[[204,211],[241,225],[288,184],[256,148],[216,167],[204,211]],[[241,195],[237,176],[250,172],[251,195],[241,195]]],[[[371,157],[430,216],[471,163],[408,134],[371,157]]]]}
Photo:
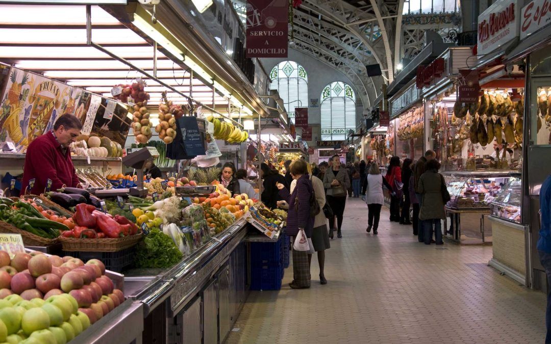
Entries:
{"type": "MultiPolygon", "coordinates": [[[[539,239],[537,243],[539,261],[541,261],[545,274],[547,275],[547,285],[551,285],[551,174],[545,179],[541,189],[539,189],[539,210],[540,210],[540,228],[539,239]]],[[[545,343],[551,343],[551,288],[547,288],[547,310],[545,310],[545,326],[547,327],[547,336],[545,343]]]]}

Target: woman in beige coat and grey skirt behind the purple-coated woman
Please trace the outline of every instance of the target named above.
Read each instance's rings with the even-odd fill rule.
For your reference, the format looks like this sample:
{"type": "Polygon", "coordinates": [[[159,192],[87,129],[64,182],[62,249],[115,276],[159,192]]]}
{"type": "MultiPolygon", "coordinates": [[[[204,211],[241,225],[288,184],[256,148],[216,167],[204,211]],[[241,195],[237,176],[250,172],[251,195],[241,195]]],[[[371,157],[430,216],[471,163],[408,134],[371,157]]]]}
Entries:
{"type": "MultiPolygon", "coordinates": [[[[327,284],[327,279],[325,278],[325,250],[330,248],[329,245],[329,230],[328,230],[328,220],[323,213],[323,206],[325,206],[325,188],[323,187],[323,182],[320,178],[312,176],[311,167],[308,166],[308,172],[310,173],[310,181],[314,187],[314,192],[316,193],[317,203],[320,205],[320,212],[316,215],[314,219],[314,231],[312,232],[312,244],[314,245],[314,250],[317,252],[317,261],[320,265],[320,283],[322,285],[327,284]]],[[[290,192],[293,193],[293,189],[296,186],[296,180],[293,179],[291,182],[290,192]]],[[[278,201],[279,208],[288,209],[289,205],[285,201],[278,201]]],[[[312,255],[308,255],[308,262],[311,263],[312,255]]]]}

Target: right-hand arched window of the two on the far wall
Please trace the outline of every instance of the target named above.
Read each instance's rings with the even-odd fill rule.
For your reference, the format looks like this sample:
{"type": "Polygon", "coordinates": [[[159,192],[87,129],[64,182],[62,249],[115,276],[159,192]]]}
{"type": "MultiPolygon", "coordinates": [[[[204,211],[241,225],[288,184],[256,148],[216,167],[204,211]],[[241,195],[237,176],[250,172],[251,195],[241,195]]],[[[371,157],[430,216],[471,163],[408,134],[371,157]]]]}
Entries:
{"type": "Polygon", "coordinates": [[[321,92],[321,139],[345,140],[356,129],[356,96],[350,85],[335,81],[321,92]]]}

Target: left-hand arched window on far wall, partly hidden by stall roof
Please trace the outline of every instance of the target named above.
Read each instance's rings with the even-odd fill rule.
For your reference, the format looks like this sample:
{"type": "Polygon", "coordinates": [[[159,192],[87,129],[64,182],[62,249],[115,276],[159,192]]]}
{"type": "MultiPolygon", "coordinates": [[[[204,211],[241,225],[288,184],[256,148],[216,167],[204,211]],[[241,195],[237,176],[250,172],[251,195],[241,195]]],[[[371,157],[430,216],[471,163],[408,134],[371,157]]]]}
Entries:
{"type": "Polygon", "coordinates": [[[271,89],[278,90],[291,123],[295,123],[295,107],[308,107],[306,70],[293,61],[280,62],[270,73],[271,89]]]}

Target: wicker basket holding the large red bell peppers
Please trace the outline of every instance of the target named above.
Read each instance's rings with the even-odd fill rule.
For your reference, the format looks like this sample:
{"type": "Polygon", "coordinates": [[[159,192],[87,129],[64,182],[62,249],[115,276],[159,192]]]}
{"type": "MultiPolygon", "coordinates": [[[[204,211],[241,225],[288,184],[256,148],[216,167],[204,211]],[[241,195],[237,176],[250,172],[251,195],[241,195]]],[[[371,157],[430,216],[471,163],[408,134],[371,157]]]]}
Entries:
{"type": "Polygon", "coordinates": [[[67,252],[117,252],[136,245],[142,239],[142,233],[122,238],[65,238],[60,237],[63,250],[67,252]]]}

